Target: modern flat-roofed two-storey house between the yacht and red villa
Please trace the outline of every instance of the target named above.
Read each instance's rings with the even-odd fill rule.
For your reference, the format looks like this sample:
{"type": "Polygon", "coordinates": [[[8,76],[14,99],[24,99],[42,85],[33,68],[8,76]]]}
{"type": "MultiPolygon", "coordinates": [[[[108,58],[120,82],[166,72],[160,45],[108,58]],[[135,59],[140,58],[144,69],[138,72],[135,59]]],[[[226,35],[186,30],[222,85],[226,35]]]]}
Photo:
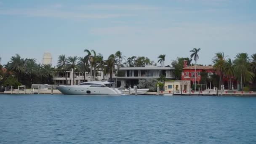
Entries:
{"type": "MultiPolygon", "coordinates": [[[[174,68],[172,67],[157,67],[157,66],[145,66],[145,67],[121,67],[119,71],[124,71],[124,75],[117,77],[117,87],[126,88],[129,85],[133,88],[133,85],[138,85],[139,80],[159,78],[161,75],[165,76],[168,80],[174,80],[174,68]]],[[[116,77],[114,77],[115,80],[116,77]]]]}

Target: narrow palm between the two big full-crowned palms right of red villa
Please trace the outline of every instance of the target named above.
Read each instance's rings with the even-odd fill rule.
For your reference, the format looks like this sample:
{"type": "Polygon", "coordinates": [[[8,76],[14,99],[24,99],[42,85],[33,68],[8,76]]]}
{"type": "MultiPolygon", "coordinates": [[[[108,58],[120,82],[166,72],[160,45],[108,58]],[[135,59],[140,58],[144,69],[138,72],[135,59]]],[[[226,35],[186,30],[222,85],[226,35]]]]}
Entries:
{"type": "Polygon", "coordinates": [[[229,78],[229,89],[232,89],[231,78],[235,76],[234,62],[229,58],[225,62],[224,73],[229,78]]]}

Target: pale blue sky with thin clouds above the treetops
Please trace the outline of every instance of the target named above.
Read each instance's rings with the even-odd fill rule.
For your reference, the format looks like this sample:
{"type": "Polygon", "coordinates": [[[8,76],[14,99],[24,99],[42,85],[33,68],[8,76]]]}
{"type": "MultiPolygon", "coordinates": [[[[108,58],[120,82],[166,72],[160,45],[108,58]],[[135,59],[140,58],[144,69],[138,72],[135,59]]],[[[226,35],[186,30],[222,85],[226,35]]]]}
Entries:
{"type": "Polygon", "coordinates": [[[256,0],[0,0],[1,64],[16,53],[42,62],[50,52],[104,58],[121,51],[165,65],[201,48],[199,64],[214,53],[256,53],[256,0]]]}

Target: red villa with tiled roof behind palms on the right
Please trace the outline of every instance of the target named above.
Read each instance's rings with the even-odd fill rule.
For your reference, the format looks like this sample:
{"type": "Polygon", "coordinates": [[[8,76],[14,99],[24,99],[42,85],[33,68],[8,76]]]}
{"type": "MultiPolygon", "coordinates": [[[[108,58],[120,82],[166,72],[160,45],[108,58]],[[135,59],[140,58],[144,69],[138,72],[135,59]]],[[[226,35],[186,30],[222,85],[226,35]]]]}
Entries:
{"type": "MultiPolygon", "coordinates": [[[[184,68],[183,72],[181,75],[181,80],[190,80],[191,85],[195,83],[195,76],[196,76],[196,83],[199,84],[201,81],[201,72],[206,72],[208,73],[208,77],[210,78],[211,75],[215,74],[215,70],[213,69],[212,66],[196,66],[196,75],[195,75],[195,66],[187,67],[187,62],[184,61],[184,68]]],[[[224,88],[228,89],[229,88],[229,78],[224,76],[223,77],[223,83],[224,83],[224,88]]],[[[234,89],[237,88],[237,81],[235,77],[232,77],[232,85],[234,86],[234,89]]],[[[205,85],[206,88],[213,88],[213,83],[210,81],[206,83],[205,85]]]]}

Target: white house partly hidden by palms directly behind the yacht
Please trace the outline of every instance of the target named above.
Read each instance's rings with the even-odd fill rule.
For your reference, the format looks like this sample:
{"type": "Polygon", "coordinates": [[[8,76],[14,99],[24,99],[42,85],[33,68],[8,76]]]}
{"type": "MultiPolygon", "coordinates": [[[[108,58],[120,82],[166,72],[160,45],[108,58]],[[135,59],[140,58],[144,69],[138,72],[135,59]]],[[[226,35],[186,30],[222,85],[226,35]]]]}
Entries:
{"type": "MultiPolygon", "coordinates": [[[[53,81],[56,85],[73,85],[73,72],[74,70],[72,69],[71,71],[67,71],[67,83],[66,83],[66,76],[64,72],[57,72],[54,77],[53,81]]],[[[115,76],[115,72],[113,73],[113,76],[115,76]]],[[[96,80],[109,80],[110,75],[104,75],[103,71],[99,70],[96,75],[96,80]]],[[[85,72],[85,77],[84,77],[84,72],[75,72],[75,85],[78,85],[83,82],[91,81],[90,74],[88,72],[85,72]]]]}

